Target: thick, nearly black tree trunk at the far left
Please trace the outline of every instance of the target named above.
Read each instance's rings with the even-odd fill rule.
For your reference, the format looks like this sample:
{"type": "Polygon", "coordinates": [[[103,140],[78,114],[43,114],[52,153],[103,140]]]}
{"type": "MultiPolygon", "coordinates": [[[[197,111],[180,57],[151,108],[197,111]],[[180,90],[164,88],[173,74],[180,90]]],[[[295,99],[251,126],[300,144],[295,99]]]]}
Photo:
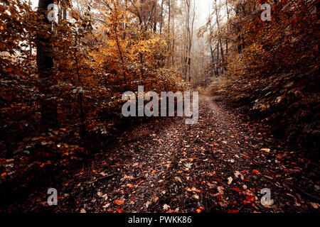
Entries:
{"type": "Polygon", "coordinates": [[[43,94],[40,100],[41,125],[45,128],[58,126],[57,104],[50,96],[50,88],[55,84],[55,79],[53,78],[53,59],[50,55],[52,52],[50,45],[51,22],[48,21],[46,13],[49,4],[53,3],[53,0],[39,0],[38,3],[38,12],[45,17],[39,24],[37,43],[37,67],[41,79],[39,90],[43,94]]]}

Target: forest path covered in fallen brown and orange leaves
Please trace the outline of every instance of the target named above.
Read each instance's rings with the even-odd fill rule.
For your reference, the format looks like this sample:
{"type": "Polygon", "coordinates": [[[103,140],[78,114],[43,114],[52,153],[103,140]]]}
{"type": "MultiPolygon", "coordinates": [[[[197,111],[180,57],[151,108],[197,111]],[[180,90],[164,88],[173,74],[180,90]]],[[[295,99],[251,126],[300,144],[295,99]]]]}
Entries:
{"type": "Polygon", "coordinates": [[[201,96],[199,121],[159,118],[118,138],[79,170],[57,176],[8,211],[319,212],[319,163],[267,127],[201,96]],[[58,206],[48,206],[49,187],[58,206]],[[262,189],[271,206],[262,206],[262,189]]]}

